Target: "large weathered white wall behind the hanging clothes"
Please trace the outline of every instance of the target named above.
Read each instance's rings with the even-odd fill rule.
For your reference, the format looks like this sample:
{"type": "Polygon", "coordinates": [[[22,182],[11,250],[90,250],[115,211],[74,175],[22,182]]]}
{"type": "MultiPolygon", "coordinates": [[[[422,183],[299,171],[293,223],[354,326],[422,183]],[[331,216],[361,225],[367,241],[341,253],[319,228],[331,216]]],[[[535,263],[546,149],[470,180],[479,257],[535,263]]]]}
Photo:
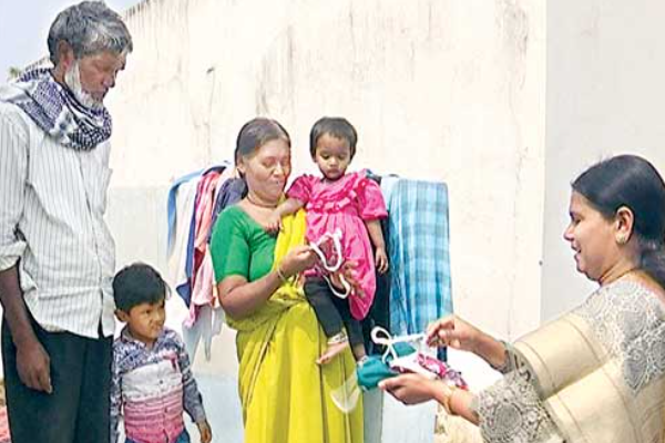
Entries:
{"type": "MultiPolygon", "coordinates": [[[[129,25],[110,103],[116,195],[231,159],[257,114],[290,131],[296,173],[311,171],[310,125],[344,115],[360,134],[354,167],[448,183],[458,312],[508,338],[539,323],[542,1],[153,0],[129,25]]],[[[154,220],[133,207],[114,208],[120,259],[160,261],[140,246],[154,220]]]]}

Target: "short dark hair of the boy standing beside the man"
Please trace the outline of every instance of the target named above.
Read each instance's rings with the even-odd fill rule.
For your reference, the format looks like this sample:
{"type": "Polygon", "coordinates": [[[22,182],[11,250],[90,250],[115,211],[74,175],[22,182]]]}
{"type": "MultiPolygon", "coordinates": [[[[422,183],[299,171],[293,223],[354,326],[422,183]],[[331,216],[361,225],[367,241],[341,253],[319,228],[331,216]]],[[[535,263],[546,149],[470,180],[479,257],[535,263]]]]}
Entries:
{"type": "Polygon", "coordinates": [[[113,299],[123,312],[141,303],[157,303],[166,298],[168,286],[152,266],[135,262],[113,277],[113,299]]]}

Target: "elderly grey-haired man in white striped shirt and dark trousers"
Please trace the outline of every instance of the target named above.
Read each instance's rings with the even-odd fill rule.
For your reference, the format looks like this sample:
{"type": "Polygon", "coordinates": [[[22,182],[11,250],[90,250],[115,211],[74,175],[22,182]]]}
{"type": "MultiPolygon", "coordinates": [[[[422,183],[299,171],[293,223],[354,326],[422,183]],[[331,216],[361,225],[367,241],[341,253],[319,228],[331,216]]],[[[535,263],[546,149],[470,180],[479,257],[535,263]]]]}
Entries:
{"type": "Polygon", "coordinates": [[[102,2],[62,11],[53,69],[0,87],[0,301],[13,443],[109,441],[114,244],[104,223],[111,116],[132,51],[102,2]]]}

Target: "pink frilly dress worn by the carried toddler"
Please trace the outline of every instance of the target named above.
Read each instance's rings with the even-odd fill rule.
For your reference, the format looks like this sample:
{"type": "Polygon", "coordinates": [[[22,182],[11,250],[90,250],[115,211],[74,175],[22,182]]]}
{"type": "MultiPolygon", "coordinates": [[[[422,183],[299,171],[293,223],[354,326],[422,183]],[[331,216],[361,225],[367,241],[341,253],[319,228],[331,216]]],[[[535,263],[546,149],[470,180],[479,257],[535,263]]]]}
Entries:
{"type": "Polygon", "coordinates": [[[287,196],[305,203],[309,243],[316,243],[326,233],[332,234],[336,228],[341,230],[344,259],[358,264],[356,277],[362,291],[348,298],[349,306],[354,318],[364,319],[377,288],[374,254],[364,220],[388,216],[381,188],[367,177],[367,171],[346,174],[335,182],[303,175],[293,183],[287,196]]]}

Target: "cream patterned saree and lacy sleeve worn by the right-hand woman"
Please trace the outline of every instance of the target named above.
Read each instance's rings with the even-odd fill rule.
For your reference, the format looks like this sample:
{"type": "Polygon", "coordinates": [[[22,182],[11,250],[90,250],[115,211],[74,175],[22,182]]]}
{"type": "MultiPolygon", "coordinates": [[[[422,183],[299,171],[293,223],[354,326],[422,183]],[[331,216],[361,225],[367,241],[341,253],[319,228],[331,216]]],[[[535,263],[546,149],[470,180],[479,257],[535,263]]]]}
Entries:
{"type": "Polygon", "coordinates": [[[487,442],[656,443],[665,423],[665,310],[618,280],[509,348],[479,394],[487,442]]]}

